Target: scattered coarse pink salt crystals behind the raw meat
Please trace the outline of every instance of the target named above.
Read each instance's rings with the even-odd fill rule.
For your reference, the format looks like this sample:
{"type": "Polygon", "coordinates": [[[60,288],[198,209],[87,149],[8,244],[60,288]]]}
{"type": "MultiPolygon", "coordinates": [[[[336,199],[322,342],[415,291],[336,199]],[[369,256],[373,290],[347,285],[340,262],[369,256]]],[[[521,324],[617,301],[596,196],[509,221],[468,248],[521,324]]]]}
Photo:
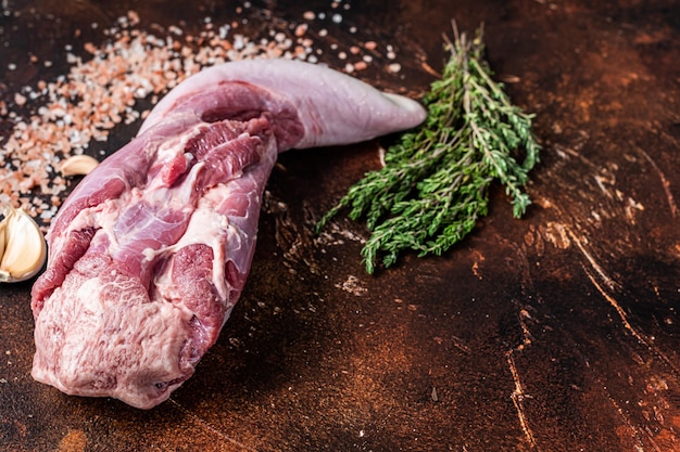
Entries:
{"type": "MultiPolygon", "coordinates": [[[[336,10],[340,7],[350,9],[348,2],[331,4],[336,10]]],[[[240,13],[250,8],[247,1],[236,10],[240,13]]],[[[2,139],[0,202],[23,207],[42,224],[49,224],[67,189],[67,181],[55,172],[61,160],[90,152],[90,147],[95,147],[92,155],[104,156],[102,145],[91,144],[105,142],[110,131],[119,124],[131,125],[144,119],[149,109],[141,109],[137,104],[139,100],[153,104],[185,78],[205,66],[226,61],[286,57],[327,64],[319,62],[324,48],[315,47],[312,38],[325,38],[328,30],[311,30],[312,21],[326,17],[324,12],[305,11],[302,13],[304,22],[273,24],[268,38],[251,38],[245,28],[236,33],[249,23],[248,17],[214,24],[213,18],[206,16],[203,29],[191,35],[178,25],[166,28],[150,25],[148,30],[135,28],[142,20],[137,12],[128,11],[113,26],[102,30],[102,35],[109,37],[104,44],[83,44],[81,50],[91,57],[84,61],[73,44],[64,46],[64,59],[70,65],[67,74],[58,75],[51,81],[40,80],[36,87],[24,87],[14,94],[14,104],[30,112],[27,118],[0,102],[0,113],[14,122],[13,130],[2,139]]],[[[343,23],[339,13],[329,17],[335,24],[343,23]]],[[[98,29],[99,24],[92,23],[91,28],[98,29]]],[[[356,27],[347,30],[353,34],[356,27]]],[[[74,33],[76,38],[79,35],[79,30],[74,33]]],[[[364,70],[374,62],[374,56],[364,52],[374,51],[375,41],[350,47],[340,47],[338,42],[341,40],[332,39],[329,44],[338,60],[347,61],[349,55],[358,60],[347,62],[344,72],[364,70]]],[[[395,60],[393,48],[388,44],[386,50],[387,57],[395,60]]],[[[33,64],[38,62],[35,55],[29,55],[28,60],[33,64]]],[[[52,61],[45,60],[42,65],[50,67],[52,61]]],[[[9,63],[7,68],[15,70],[17,65],[9,63]]],[[[399,73],[401,65],[392,63],[387,69],[399,73]]]]}

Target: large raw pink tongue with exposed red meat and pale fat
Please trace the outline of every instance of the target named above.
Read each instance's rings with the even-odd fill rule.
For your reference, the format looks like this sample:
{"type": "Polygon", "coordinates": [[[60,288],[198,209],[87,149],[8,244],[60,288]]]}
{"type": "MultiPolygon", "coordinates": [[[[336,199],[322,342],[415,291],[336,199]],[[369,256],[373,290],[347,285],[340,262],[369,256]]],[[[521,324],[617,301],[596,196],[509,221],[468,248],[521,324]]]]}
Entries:
{"type": "Polygon", "coordinates": [[[34,378],[141,409],[166,400],[243,288],[277,154],[424,118],[414,101],[301,62],[226,63],[185,80],[54,219],[32,293],[34,378]]]}

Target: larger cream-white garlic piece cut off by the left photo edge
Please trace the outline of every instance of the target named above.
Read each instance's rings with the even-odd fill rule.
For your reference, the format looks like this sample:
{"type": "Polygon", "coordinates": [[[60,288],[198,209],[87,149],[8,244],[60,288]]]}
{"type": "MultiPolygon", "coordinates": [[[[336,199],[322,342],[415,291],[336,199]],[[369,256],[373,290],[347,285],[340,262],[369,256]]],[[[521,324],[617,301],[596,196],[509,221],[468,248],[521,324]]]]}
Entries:
{"type": "Polygon", "coordinates": [[[0,206],[0,283],[35,276],[47,259],[47,244],[28,214],[0,206]]]}

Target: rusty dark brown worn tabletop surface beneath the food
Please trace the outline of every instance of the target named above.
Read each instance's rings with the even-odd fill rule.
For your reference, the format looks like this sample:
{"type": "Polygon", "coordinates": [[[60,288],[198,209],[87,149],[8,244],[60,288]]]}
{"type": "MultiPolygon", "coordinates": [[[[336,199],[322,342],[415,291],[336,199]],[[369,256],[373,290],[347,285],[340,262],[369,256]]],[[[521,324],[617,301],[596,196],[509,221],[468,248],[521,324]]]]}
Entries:
{"type": "MultiPolygon", "coordinates": [[[[0,18],[0,61],[56,61],[75,28],[77,42],[101,42],[88,24],[128,9],[165,25],[235,14],[207,0],[9,3],[22,15],[0,18]]],[[[680,450],[680,4],[379,0],[343,14],[357,31],[336,36],[402,51],[403,79],[362,77],[413,93],[431,80],[419,59],[441,68],[449,20],[484,22],[491,65],[537,113],[544,144],[528,217],[513,220],[495,193],[446,256],[368,276],[358,242],[318,242],[311,227],[378,165],[377,143],[286,154],[239,305],[194,377],[156,409],[33,382],[30,284],[0,287],[0,450],[680,450]]],[[[3,95],[59,70],[2,65],[3,95]]],[[[131,133],[117,130],[111,147],[131,133]]]]}

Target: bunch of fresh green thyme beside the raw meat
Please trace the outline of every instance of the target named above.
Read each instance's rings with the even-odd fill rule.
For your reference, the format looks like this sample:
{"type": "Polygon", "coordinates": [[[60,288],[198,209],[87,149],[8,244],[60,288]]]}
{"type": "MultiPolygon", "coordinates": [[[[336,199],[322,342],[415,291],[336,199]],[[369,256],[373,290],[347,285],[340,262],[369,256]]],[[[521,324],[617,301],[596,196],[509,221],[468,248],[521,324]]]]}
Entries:
{"type": "Polygon", "coordinates": [[[317,224],[342,209],[366,219],[370,231],[362,255],[366,271],[393,264],[402,250],[441,255],[488,214],[489,186],[500,181],[521,217],[530,198],[522,190],[539,159],[533,115],[513,105],[484,60],[483,28],[470,41],[453,23],[451,55],[423,99],[428,115],[385,155],[385,167],[367,172],[317,224]]]}

